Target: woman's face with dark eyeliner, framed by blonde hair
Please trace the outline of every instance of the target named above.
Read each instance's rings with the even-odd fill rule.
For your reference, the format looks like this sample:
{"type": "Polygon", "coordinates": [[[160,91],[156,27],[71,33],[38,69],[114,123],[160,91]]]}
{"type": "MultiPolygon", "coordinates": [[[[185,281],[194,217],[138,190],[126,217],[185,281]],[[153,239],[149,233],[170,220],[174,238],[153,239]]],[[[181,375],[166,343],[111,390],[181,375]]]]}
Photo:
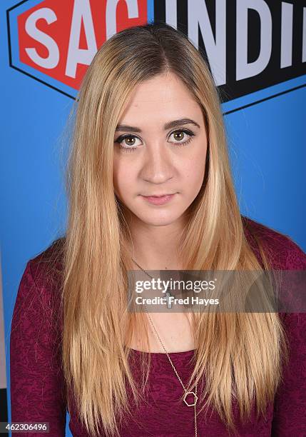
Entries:
{"type": "Polygon", "coordinates": [[[200,191],[207,133],[198,103],[178,76],[139,84],[117,126],[113,185],[121,203],[151,226],[180,221],[200,191]],[[146,196],[173,194],[166,201],[146,196]]]}

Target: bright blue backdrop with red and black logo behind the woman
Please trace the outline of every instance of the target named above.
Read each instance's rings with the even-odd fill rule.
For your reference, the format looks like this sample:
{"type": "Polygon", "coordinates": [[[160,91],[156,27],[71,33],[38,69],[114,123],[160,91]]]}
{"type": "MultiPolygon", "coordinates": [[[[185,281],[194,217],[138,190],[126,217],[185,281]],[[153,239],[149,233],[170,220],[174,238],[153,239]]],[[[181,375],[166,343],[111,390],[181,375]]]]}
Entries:
{"type": "Polygon", "coordinates": [[[183,31],[208,60],[241,213],[306,250],[306,0],[1,0],[0,421],[21,274],[65,231],[71,105],[97,49],[149,21],[183,31]]]}

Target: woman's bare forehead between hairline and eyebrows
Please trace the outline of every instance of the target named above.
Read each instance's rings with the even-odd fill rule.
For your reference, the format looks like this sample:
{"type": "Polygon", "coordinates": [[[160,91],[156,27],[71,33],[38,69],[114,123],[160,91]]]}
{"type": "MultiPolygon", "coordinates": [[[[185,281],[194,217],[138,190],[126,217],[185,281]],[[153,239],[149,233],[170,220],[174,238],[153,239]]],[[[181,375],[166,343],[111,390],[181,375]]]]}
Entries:
{"type": "Polygon", "coordinates": [[[200,106],[178,76],[161,74],[138,84],[131,94],[121,120],[143,117],[201,114],[200,106]]]}

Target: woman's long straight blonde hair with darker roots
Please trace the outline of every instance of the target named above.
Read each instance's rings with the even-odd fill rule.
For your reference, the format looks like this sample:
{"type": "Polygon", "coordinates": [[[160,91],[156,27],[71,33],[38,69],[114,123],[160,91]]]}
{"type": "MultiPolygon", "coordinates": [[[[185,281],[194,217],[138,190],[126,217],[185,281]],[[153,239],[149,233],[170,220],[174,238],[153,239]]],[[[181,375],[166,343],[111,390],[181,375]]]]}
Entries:
{"type": "MultiPolygon", "coordinates": [[[[187,270],[262,269],[243,231],[220,95],[205,59],[183,34],[166,24],[134,26],[115,34],[98,50],[83,78],[66,179],[63,371],[81,421],[93,435],[98,423],[107,435],[118,433],[123,411],[131,415],[126,383],[138,403],[148,378],[150,354],[141,354],[140,389],[128,361],[128,339],[137,325],[146,350],[148,326],[143,313],[128,313],[126,308],[127,272],[133,265],[128,226],[113,189],[113,138],[135,86],[167,71],[193,94],[208,129],[203,186],[188,209],[190,219],[181,237],[183,266],[187,270]]],[[[269,268],[263,252],[262,256],[269,268]]],[[[205,393],[200,398],[207,395],[207,405],[230,428],[235,428],[233,393],[241,418],[248,417],[254,399],[257,413],[264,412],[281,379],[282,355],[287,356],[277,313],[196,313],[193,323],[196,353],[190,381],[197,372],[198,378],[205,374],[205,393]]]]}

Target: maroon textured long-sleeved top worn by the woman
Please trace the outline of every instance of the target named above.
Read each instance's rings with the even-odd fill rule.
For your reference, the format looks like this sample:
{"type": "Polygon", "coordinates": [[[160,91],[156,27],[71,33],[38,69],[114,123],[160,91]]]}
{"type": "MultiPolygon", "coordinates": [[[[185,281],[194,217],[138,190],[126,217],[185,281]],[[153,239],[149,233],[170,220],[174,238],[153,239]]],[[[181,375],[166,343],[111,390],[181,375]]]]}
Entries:
{"type": "MultiPolygon", "coordinates": [[[[289,237],[243,217],[245,235],[257,254],[255,234],[265,244],[272,267],[282,270],[306,270],[306,255],[289,237]]],[[[65,384],[61,370],[61,319],[57,312],[58,282],[47,280],[44,267],[54,253],[54,245],[31,259],[21,278],[11,325],[11,421],[49,422],[49,436],[65,435],[65,384]],[[39,262],[44,261],[44,262],[39,262]]],[[[281,313],[290,339],[290,361],[283,382],[265,417],[252,411],[248,423],[240,423],[233,403],[238,436],[306,436],[306,313],[281,313]]],[[[139,358],[132,350],[131,357],[139,358]]],[[[194,436],[194,409],[178,403],[182,387],[165,353],[152,353],[148,381],[148,404],[135,411],[132,420],[123,423],[121,436],[194,436]]],[[[182,381],[191,374],[193,351],[170,353],[182,381]]],[[[138,366],[132,366],[137,377],[138,366]]],[[[200,386],[198,387],[199,390],[200,386]]],[[[211,411],[198,416],[198,436],[229,436],[218,415],[211,411]],[[210,414],[211,413],[211,414],[210,414]]],[[[86,437],[78,414],[71,408],[69,422],[75,437],[86,437]]],[[[14,433],[19,436],[19,433],[14,433]]],[[[42,433],[20,433],[41,436],[42,433]]],[[[101,433],[101,436],[104,434],[101,433]]]]}

